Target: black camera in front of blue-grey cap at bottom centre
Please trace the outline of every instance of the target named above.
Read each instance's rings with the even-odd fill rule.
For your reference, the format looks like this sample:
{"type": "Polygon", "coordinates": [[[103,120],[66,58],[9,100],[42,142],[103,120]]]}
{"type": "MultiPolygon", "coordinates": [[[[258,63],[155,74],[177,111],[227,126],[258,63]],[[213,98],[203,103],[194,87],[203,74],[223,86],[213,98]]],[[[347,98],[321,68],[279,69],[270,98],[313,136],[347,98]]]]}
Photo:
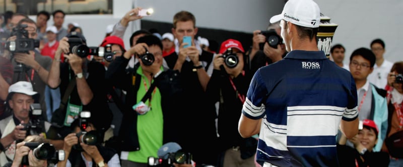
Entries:
{"type": "Polygon", "coordinates": [[[148,157],[148,164],[150,166],[174,166],[173,163],[177,164],[191,164],[192,155],[189,152],[184,152],[182,150],[178,150],[176,152],[168,153],[168,158],[163,159],[159,157],[148,157]]]}

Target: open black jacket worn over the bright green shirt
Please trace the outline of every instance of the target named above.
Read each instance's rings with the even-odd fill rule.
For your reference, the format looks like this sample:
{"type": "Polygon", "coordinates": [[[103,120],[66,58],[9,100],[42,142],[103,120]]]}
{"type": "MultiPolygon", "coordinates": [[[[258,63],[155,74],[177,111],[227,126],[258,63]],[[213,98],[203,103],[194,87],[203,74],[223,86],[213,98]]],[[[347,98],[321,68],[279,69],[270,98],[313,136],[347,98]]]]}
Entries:
{"type": "MultiPolygon", "coordinates": [[[[136,151],[140,150],[139,137],[137,134],[137,113],[131,107],[137,101],[137,92],[141,85],[141,76],[134,71],[126,71],[125,67],[128,64],[127,59],[124,57],[117,57],[108,67],[105,78],[110,86],[114,86],[127,92],[125,95],[125,102],[120,106],[122,111],[122,123],[119,130],[119,139],[123,143],[120,145],[123,151],[136,151]],[[133,83],[134,79],[134,85],[133,83]]],[[[177,121],[175,121],[176,110],[175,101],[181,96],[181,86],[179,83],[179,72],[164,69],[164,71],[154,78],[154,83],[161,93],[161,106],[164,117],[164,131],[163,143],[173,141],[176,130],[174,129],[177,121]]],[[[111,87],[109,88],[109,90],[111,87]]],[[[115,100],[116,102],[116,100],[115,100]]]]}

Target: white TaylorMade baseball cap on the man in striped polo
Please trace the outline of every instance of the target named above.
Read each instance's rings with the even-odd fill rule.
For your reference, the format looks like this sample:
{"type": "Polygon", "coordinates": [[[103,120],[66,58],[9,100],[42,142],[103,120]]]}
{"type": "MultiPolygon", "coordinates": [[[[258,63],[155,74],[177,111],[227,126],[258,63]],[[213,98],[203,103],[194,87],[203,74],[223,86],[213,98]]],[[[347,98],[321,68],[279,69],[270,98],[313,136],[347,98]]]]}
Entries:
{"type": "Polygon", "coordinates": [[[283,12],[273,16],[270,23],[281,20],[302,27],[317,28],[320,24],[320,9],[312,0],[289,0],[284,6],[283,12]]]}

